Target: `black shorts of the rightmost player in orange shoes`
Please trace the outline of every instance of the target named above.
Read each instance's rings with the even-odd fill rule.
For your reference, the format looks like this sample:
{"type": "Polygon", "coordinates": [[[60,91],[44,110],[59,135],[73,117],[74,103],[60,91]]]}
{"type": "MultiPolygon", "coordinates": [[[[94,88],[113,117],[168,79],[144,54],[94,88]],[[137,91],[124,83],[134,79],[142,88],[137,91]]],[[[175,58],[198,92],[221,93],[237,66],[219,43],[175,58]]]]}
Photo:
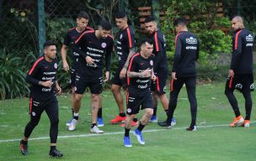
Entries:
{"type": "Polygon", "coordinates": [[[227,77],[226,90],[254,91],[253,74],[235,74],[227,77]]]}

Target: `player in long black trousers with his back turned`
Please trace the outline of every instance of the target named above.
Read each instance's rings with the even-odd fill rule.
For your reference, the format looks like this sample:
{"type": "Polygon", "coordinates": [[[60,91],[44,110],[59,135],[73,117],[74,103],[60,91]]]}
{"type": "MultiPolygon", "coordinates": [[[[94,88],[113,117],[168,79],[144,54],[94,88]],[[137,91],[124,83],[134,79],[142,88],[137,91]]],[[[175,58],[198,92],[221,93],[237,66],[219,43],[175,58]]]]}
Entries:
{"type": "Polygon", "coordinates": [[[158,122],[162,127],[171,127],[174,110],[177,106],[179,91],[186,85],[189,96],[191,123],[188,131],[196,131],[197,101],[195,97],[195,61],[199,57],[199,39],[191,34],[186,26],[184,18],[178,18],[173,22],[176,29],[175,53],[173,60],[172,81],[170,89],[170,101],[168,107],[168,118],[165,122],[158,122]]]}

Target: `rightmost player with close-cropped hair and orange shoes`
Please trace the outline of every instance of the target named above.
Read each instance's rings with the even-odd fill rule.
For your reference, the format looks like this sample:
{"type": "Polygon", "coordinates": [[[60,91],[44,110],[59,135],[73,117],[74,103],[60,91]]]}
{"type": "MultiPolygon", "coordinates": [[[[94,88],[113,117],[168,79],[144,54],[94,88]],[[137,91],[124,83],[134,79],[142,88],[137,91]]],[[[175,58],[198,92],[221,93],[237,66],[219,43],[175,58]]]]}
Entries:
{"type": "Polygon", "coordinates": [[[232,38],[232,60],[226,83],[225,94],[235,113],[230,127],[249,127],[252,112],[251,91],[254,90],[253,83],[253,34],[244,29],[243,18],[236,16],[232,18],[232,29],[235,35],[232,38]],[[245,100],[245,120],[239,111],[234,90],[243,93],[245,100]]]}

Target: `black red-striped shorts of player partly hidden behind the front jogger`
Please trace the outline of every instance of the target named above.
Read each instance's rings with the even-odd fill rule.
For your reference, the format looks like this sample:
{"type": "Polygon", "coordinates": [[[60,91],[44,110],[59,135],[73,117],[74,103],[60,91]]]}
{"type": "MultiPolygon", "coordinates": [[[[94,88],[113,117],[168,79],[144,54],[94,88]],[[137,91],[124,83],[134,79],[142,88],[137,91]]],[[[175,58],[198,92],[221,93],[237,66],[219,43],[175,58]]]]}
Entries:
{"type": "Polygon", "coordinates": [[[151,90],[156,92],[157,95],[163,95],[166,93],[166,81],[168,79],[168,70],[161,70],[155,73],[157,76],[156,81],[152,81],[151,90]]]}

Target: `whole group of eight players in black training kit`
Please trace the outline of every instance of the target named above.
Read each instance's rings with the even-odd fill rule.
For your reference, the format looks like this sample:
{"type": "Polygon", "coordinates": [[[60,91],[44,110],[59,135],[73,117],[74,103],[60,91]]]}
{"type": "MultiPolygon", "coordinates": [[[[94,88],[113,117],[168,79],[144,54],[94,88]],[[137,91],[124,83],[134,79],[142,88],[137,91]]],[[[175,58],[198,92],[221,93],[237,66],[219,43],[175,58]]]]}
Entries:
{"type": "MultiPolygon", "coordinates": [[[[195,96],[196,72],[195,62],[199,58],[199,39],[187,29],[184,18],[174,20],[176,30],[175,54],[173,60],[172,80],[170,83],[170,100],[166,96],[166,81],[168,79],[168,60],[166,43],[161,30],[157,28],[157,21],[153,16],[146,18],[145,27],[148,37],[141,40],[140,49],[136,51],[135,33],[125,12],[115,14],[115,22],[120,29],[116,36],[116,44],[110,36],[111,24],[102,20],[98,29],[89,28],[88,13],[77,15],[77,26],[70,29],[61,47],[63,68],[70,70],[72,85],[72,119],[67,122],[68,130],[74,131],[79,120],[79,109],[83,93],[88,87],[91,92],[91,127],[90,132],[103,133],[99,127],[104,126],[102,118],[102,84],[109,81],[111,54],[114,49],[118,55],[118,67],[112,79],[111,91],[119,107],[119,115],[110,120],[111,123],[124,122],[125,147],[131,147],[130,130],[136,126],[134,135],[137,141],[145,144],[142,129],[147,122],[157,122],[157,99],[162,102],[167,114],[167,120],[158,122],[162,127],[173,127],[176,122],[173,112],[177,106],[177,98],[181,88],[186,86],[191,112],[191,122],[188,131],[196,131],[197,101],[195,96]],[[72,67],[67,63],[67,49],[72,49],[72,67]],[[105,75],[103,75],[105,67],[105,75]],[[105,78],[105,79],[104,79],[105,78]],[[126,96],[126,113],[121,89],[126,96]],[[136,114],[144,109],[145,113],[140,122],[136,114]]],[[[231,127],[249,127],[253,91],[253,34],[243,28],[243,18],[232,18],[232,28],[235,36],[232,47],[232,65],[229,70],[225,94],[236,114],[231,127]],[[243,120],[237,106],[233,91],[237,89],[243,93],[246,100],[246,117],[243,120]]],[[[62,157],[56,149],[58,134],[58,106],[56,94],[61,93],[61,87],[56,81],[56,44],[46,41],[44,53],[35,62],[27,81],[31,84],[30,122],[24,130],[24,138],[20,141],[21,153],[28,153],[28,138],[40,121],[42,112],[46,112],[51,121],[50,137],[51,157],[62,157]]]]}

